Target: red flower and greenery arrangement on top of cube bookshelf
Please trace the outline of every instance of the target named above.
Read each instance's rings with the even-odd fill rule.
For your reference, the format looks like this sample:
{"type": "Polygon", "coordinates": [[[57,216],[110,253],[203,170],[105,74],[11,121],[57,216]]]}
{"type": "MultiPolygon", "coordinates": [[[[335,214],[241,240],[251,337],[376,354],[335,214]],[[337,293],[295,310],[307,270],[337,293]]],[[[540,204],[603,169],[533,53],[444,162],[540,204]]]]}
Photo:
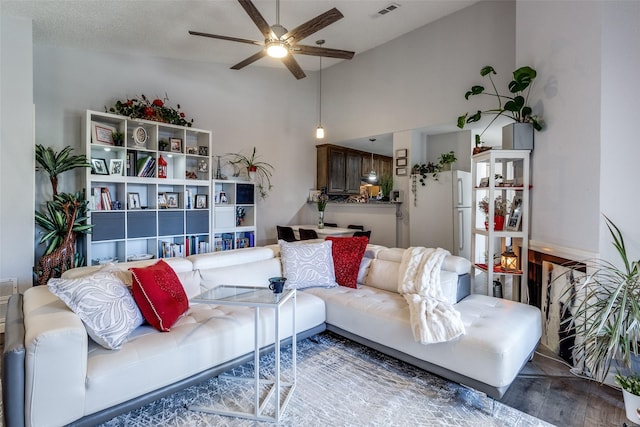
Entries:
{"type": "Polygon", "coordinates": [[[173,125],[191,127],[193,119],[185,119],[185,114],[180,111],[180,104],[177,108],[167,106],[169,98],[164,95],[164,99],[155,98],[150,100],[144,95],[139,98],[127,98],[126,101],[116,101],[116,104],[105,112],[111,112],[127,116],[132,119],[154,120],[157,122],[170,123],[173,125]]]}

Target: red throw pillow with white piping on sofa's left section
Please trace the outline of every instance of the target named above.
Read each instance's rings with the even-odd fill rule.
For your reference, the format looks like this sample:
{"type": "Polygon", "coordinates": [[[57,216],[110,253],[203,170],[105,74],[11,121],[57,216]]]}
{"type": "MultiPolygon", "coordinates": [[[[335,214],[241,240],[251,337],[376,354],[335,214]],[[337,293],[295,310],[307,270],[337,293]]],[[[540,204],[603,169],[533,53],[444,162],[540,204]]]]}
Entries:
{"type": "Polygon", "coordinates": [[[154,328],[168,332],[189,309],[189,299],[176,272],[163,260],[129,270],[133,275],[133,299],[142,315],[154,328]]]}

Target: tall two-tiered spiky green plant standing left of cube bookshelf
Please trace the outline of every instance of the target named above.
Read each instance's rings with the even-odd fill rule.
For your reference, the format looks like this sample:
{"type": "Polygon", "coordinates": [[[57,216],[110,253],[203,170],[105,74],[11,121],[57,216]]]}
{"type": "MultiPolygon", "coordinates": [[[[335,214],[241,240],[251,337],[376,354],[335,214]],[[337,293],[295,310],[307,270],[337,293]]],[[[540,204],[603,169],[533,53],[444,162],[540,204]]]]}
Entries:
{"type": "Polygon", "coordinates": [[[49,175],[53,191],[53,200],[46,202],[46,210],[35,212],[36,225],[43,233],[38,243],[47,246],[34,271],[39,285],[60,277],[65,270],[84,265],[83,257],[76,254],[75,242],[78,234],[90,233],[93,227],[86,223],[88,201],[81,192],[58,193],[58,175],[91,167],[86,156],[71,155],[72,150],[67,146],[56,153],[50,147],[36,145],[36,162],[49,175]]]}

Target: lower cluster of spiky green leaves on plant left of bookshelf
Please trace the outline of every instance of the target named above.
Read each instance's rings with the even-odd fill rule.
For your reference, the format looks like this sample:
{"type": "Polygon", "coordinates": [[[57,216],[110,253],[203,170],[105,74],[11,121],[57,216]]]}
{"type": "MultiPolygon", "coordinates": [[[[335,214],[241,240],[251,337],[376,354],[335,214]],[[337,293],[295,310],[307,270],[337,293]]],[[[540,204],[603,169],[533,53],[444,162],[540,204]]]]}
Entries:
{"type": "Polygon", "coordinates": [[[87,205],[81,192],[75,194],[60,193],[53,196],[53,200],[47,202],[47,209],[43,212],[35,212],[36,224],[42,229],[39,244],[46,244],[44,255],[53,252],[64,240],[67,230],[67,218],[64,205],[66,203],[78,203],[78,211],[73,221],[72,230],[75,233],[86,234],[91,232],[92,224],[87,224],[87,205]]]}

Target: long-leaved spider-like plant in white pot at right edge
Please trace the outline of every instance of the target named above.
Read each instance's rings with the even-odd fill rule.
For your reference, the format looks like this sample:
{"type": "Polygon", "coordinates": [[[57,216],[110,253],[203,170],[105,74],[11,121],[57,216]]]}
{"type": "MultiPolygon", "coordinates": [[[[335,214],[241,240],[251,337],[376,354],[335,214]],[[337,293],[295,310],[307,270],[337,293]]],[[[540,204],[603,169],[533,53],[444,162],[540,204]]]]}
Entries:
{"type": "Polygon", "coordinates": [[[604,219],[619,255],[618,263],[597,259],[587,264],[581,285],[563,293],[563,297],[576,301],[573,308],[565,307],[572,313],[563,316],[568,317],[563,326],[576,338],[577,362],[596,380],[604,382],[611,367],[616,366],[616,381],[627,392],[623,393],[625,406],[630,405],[627,417],[640,424],[640,405],[627,403],[634,394],[640,395],[640,372],[634,368],[640,350],[640,261],[629,260],[622,232],[609,218],[604,219]]]}

